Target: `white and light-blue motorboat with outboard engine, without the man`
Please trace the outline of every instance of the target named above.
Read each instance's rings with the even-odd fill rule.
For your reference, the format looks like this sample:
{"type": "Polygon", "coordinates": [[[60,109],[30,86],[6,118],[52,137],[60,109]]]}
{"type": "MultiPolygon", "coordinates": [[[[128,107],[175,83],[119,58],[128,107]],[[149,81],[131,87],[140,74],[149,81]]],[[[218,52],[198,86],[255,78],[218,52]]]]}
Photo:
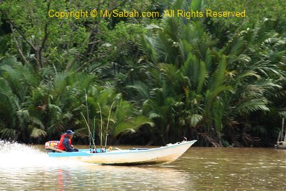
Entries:
{"type": "Polygon", "coordinates": [[[48,141],[45,150],[49,157],[73,159],[96,164],[158,164],[169,163],[178,159],[197,140],[170,143],[160,148],[131,148],[121,150],[109,149],[80,149],[79,152],[63,152],[57,149],[59,141],[48,141]]]}

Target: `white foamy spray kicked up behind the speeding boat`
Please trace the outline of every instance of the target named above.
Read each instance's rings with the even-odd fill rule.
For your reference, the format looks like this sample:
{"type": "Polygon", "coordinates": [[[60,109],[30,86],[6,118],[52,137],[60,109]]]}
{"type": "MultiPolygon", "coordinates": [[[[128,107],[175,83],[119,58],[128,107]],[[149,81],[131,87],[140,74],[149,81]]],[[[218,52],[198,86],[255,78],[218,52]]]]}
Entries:
{"type": "Polygon", "coordinates": [[[11,141],[0,140],[0,169],[24,167],[73,167],[84,164],[75,160],[59,160],[34,147],[11,141]]]}

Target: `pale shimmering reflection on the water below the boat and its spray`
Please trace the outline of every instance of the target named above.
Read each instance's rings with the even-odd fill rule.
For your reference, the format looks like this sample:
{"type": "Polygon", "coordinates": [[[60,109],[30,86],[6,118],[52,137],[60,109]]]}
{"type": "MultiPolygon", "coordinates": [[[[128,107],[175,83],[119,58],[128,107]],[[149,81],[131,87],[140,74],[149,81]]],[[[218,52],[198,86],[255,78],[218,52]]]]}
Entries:
{"type": "Polygon", "coordinates": [[[193,190],[185,171],[166,167],[25,167],[0,176],[4,190],[193,190]]]}

